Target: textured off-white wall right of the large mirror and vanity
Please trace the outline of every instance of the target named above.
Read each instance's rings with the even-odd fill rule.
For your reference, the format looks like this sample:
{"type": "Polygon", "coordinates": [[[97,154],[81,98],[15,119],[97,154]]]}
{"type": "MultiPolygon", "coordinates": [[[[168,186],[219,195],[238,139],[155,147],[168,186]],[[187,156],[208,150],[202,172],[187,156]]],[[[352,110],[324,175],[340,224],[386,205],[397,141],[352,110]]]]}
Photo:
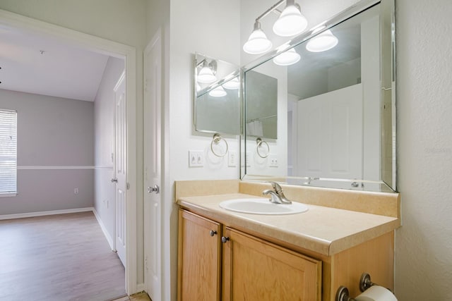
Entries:
{"type": "Polygon", "coordinates": [[[396,1],[400,301],[452,300],[452,4],[396,1]]]}

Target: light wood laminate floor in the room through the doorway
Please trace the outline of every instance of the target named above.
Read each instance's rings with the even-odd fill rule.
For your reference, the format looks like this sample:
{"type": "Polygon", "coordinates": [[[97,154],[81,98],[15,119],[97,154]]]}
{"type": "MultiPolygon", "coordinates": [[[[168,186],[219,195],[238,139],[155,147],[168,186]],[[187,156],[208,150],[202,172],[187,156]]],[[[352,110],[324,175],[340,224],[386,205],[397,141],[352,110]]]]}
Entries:
{"type": "Polygon", "coordinates": [[[113,300],[124,274],[93,212],[0,221],[1,301],[113,300]]]}

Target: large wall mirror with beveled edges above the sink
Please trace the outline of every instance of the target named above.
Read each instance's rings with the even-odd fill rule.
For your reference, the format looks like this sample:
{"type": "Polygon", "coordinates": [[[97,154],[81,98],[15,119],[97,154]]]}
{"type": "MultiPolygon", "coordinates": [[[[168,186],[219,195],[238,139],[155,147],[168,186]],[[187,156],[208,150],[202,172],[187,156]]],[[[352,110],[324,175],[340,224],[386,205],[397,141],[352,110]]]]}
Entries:
{"type": "Polygon", "coordinates": [[[262,142],[244,126],[242,178],[396,191],[394,28],[393,0],[362,1],[244,67],[242,122],[253,120],[256,73],[275,78],[278,87],[266,94],[278,106],[278,137],[261,133],[263,158],[262,142]],[[326,37],[329,46],[321,44],[326,37]],[[278,63],[294,51],[297,62],[278,63]]]}

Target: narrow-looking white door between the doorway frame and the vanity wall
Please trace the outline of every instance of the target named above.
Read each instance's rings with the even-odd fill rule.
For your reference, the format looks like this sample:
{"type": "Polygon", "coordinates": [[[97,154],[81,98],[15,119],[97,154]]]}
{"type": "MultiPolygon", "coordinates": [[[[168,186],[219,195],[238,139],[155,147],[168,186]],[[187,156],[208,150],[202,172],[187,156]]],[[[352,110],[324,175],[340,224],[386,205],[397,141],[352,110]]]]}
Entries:
{"type": "Polygon", "coordinates": [[[144,247],[145,288],[152,300],[162,300],[161,273],[161,102],[162,44],[160,32],[144,53],[144,247]]]}

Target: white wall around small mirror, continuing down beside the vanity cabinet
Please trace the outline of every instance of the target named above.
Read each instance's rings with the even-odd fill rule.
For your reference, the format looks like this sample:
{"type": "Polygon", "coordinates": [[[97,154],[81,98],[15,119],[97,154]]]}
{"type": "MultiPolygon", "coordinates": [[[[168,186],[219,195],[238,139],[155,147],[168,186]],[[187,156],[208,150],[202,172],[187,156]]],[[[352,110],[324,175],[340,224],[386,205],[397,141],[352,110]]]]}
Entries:
{"type": "MultiPolygon", "coordinates": [[[[194,53],[240,65],[240,1],[172,0],[169,11],[169,68],[165,68],[165,247],[170,252],[170,285],[165,300],[177,300],[177,206],[174,204],[174,180],[237,179],[239,164],[227,166],[227,156],[216,158],[210,152],[213,134],[196,133],[193,125],[194,53]],[[169,71],[168,71],[169,70],[169,71]],[[189,150],[205,155],[202,168],[189,168],[189,150]]],[[[165,56],[167,53],[165,53],[165,56]]],[[[222,113],[222,112],[217,112],[222,113]]],[[[239,138],[223,135],[229,150],[239,154],[239,138]]],[[[168,251],[167,251],[168,252],[168,251]]]]}

